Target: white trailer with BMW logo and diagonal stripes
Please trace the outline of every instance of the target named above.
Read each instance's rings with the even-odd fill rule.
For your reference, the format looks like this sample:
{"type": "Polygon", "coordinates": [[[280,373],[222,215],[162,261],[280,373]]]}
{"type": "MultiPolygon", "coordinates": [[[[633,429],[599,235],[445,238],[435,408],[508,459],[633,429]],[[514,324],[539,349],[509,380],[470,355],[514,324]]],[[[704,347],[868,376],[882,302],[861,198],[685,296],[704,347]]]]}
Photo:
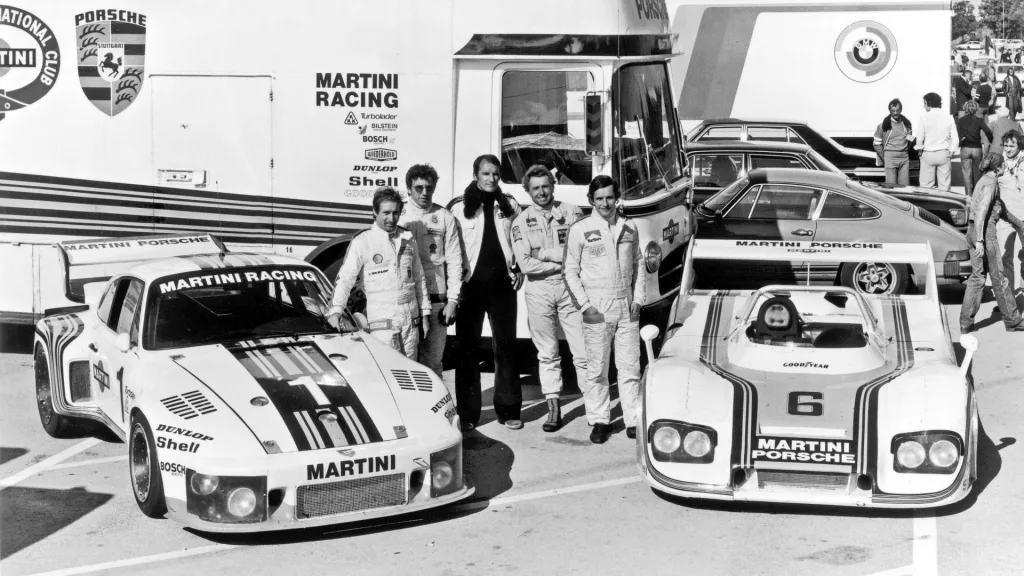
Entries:
{"type": "Polygon", "coordinates": [[[685,129],[711,118],[805,122],[870,150],[887,105],[911,122],[949,97],[948,0],[667,0],[685,129]]]}

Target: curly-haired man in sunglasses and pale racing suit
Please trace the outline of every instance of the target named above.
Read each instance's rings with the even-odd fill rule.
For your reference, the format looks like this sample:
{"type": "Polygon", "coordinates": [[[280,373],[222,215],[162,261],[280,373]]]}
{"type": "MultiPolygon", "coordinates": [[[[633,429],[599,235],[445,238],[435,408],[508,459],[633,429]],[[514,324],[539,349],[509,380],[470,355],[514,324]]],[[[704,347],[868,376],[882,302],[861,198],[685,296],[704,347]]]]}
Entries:
{"type": "MultiPolygon", "coordinates": [[[[411,202],[406,204],[398,223],[409,229],[420,247],[420,262],[430,294],[430,318],[440,326],[420,340],[420,364],[441,377],[441,357],[447,330],[455,322],[462,288],[462,248],[455,216],[434,204],[437,171],[427,164],[417,164],[406,172],[406,188],[411,202]]],[[[452,390],[453,394],[455,390],[452,390]]]]}

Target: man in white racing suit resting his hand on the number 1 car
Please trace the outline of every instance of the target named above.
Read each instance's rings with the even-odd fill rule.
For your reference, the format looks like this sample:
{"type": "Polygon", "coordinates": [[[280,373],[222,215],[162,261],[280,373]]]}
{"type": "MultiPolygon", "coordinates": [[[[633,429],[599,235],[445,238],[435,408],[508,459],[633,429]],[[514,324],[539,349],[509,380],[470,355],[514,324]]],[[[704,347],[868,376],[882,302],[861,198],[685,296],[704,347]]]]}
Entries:
{"type": "Polygon", "coordinates": [[[338,271],[328,322],[340,330],[352,287],[361,278],[367,293],[368,330],[416,360],[430,331],[430,298],[413,234],[398,225],[401,196],[391,188],[374,193],[374,224],[352,238],[338,271]]]}

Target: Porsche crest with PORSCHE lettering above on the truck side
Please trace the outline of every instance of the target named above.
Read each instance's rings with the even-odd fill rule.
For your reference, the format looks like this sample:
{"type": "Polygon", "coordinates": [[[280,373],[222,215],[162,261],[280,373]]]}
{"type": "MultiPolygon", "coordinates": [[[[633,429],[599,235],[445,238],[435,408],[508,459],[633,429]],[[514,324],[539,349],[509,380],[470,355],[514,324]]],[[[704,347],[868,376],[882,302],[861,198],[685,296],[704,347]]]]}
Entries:
{"type": "Polygon", "coordinates": [[[145,14],[118,9],[77,14],[75,38],[85,97],[108,116],[124,112],[142,89],[145,14]]]}

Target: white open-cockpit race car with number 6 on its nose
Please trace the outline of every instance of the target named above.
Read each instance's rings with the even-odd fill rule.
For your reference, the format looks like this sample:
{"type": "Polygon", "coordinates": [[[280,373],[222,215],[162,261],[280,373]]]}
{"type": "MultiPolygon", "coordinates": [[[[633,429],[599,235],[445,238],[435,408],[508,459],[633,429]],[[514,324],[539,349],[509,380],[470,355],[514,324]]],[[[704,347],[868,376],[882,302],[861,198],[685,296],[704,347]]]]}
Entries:
{"type": "MultiPolygon", "coordinates": [[[[720,500],[926,507],[964,498],[978,467],[966,376],[977,339],[962,337],[957,367],[933,266],[927,244],[695,240],[643,377],[643,478],[668,494],[720,500]],[[872,258],[911,265],[923,293],[739,285],[716,274],[872,258]]],[[[641,331],[649,358],[657,332],[641,331]]]]}

